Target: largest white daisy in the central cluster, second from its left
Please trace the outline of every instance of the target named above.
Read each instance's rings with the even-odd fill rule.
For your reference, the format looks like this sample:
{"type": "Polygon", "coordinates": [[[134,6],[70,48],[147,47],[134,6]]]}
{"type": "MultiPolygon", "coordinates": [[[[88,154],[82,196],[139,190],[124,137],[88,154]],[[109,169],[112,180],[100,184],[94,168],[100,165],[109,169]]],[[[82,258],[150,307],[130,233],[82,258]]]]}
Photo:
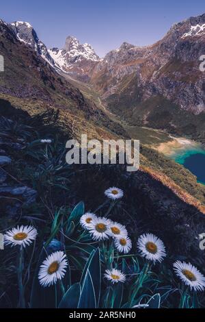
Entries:
{"type": "Polygon", "coordinates": [[[103,217],[96,217],[92,219],[92,222],[87,229],[94,240],[105,240],[110,236],[109,231],[110,220],[103,217]]]}

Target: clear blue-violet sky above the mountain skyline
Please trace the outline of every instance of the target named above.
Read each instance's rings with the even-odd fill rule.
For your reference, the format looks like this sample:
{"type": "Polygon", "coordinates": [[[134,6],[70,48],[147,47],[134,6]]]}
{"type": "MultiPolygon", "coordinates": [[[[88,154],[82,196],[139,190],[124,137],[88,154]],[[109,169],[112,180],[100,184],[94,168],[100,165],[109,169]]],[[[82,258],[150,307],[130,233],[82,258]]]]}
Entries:
{"type": "Polygon", "coordinates": [[[205,12],[204,0],[8,0],[4,21],[28,21],[47,47],[64,47],[66,36],[90,43],[102,57],[127,41],[150,45],[169,27],[205,12]]]}

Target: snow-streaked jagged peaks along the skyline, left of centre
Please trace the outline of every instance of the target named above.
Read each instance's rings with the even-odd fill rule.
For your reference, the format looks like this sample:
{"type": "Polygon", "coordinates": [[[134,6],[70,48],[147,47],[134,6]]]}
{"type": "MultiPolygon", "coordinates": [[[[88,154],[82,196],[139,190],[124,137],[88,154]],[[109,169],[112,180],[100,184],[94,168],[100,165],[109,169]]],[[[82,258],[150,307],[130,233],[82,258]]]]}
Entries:
{"type": "Polygon", "coordinates": [[[48,50],[44,43],[38,38],[36,31],[30,23],[15,21],[10,28],[16,34],[16,38],[25,45],[33,48],[46,62],[51,64],[56,71],[64,71],[75,75],[89,77],[92,66],[99,62],[91,45],[80,44],[73,36],[66,38],[63,49],[53,48],[48,50]]]}

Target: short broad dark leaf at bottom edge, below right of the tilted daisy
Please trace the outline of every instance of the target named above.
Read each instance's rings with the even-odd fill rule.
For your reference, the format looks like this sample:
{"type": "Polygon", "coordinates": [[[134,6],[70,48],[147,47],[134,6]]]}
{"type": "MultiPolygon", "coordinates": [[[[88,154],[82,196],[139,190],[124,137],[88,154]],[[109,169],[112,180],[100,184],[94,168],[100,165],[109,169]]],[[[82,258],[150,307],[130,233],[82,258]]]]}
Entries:
{"type": "Polygon", "coordinates": [[[64,297],[61,299],[59,308],[77,308],[81,295],[81,284],[76,283],[70,286],[64,297]]]}

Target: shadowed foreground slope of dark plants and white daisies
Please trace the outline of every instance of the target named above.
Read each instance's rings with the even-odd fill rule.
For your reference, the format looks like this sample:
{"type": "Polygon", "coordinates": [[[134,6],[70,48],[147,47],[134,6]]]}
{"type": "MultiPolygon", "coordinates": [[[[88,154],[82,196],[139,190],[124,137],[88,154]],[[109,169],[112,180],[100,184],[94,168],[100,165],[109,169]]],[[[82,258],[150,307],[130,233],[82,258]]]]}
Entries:
{"type": "Polygon", "coordinates": [[[68,164],[53,119],[3,119],[0,306],[203,308],[195,208],[125,164],[68,164]]]}

